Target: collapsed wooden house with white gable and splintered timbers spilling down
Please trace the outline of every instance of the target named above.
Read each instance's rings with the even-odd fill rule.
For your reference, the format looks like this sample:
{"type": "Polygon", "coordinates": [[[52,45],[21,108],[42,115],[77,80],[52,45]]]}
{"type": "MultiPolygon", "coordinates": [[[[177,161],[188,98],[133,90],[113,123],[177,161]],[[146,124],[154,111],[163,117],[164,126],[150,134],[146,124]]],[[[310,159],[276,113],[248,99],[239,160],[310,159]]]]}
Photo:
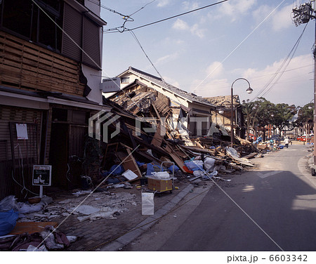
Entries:
{"type": "Polygon", "coordinates": [[[137,164],[143,162],[162,164],[170,161],[182,173],[192,173],[187,170],[185,161],[201,157],[213,157],[219,164],[234,169],[252,166],[240,159],[242,155],[254,157],[253,153],[257,152],[249,141],[236,136],[235,148],[239,156],[227,153],[230,136],[224,126],[211,122],[211,112],[216,110],[212,104],[132,67],[119,77],[125,86],[103,99],[103,103],[110,105],[112,112],[120,117],[109,126],[110,133],[118,127],[120,131],[110,138],[109,145],[114,146],[114,150],[106,151],[105,159],[118,158],[117,164],[129,155],[129,164],[123,162],[124,169],[131,169],[139,177],[143,173],[137,164]],[[204,117],[205,122],[197,125],[195,117],[204,117]]]}

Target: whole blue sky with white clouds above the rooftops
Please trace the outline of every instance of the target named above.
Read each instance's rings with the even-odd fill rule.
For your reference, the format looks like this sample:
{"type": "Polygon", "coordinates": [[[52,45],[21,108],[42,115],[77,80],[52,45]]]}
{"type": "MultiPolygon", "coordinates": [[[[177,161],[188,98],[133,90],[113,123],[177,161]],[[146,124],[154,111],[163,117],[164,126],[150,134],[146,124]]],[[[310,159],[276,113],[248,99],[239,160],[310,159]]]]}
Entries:
{"type": "Polygon", "coordinates": [[[315,20],[296,26],[291,18],[292,9],[308,0],[218,2],[101,0],[107,22],[103,76],[116,77],[132,66],[203,97],[230,95],[232,83],[244,78],[254,92],[248,95],[247,82],[236,81],[232,87],[240,100],[310,103],[315,20]],[[204,6],[209,7],[141,27],[204,6]],[[122,15],[133,21],[124,24],[122,15]]]}

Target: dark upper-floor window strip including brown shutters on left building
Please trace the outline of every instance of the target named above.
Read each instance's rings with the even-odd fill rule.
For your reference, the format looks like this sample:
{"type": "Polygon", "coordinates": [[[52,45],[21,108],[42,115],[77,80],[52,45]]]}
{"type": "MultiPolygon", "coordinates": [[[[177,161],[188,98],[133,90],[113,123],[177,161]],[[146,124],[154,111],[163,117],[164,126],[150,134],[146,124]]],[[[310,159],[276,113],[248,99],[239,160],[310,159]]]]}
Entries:
{"type": "Polygon", "coordinates": [[[100,70],[102,22],[63,0],[36,2],[40,8],[32,0],[0,0],[0,29],[100,70]]]}

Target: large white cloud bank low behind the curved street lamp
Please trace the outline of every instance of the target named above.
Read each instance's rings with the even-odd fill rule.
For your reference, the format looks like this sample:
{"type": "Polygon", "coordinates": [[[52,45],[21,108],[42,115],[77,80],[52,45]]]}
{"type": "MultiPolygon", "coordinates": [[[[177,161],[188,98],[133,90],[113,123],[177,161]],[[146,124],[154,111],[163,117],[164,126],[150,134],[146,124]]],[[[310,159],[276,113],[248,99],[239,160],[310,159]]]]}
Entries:
{"type": "Polygon", "coordinates": [[[197,95],[204,97],[212,97],[218,95],[229,95],[230,86],[234,79],[238,77],[246,78],[254,92],[251,95],[246,94],[242,81],[236,82],[234,85],[234,93],[238,94],[241,100],[254,99],[264,97],[272,103],[287,103],[289,105],[305,105],[313,98],[313,59],[311,54],[299,55],[294,57],[289,63],[284,73],[275,75],[282,66],[283,59],[267,65],[263,69],[249,68],[246,70],[239,69],[239,74],[232,74],[234,70],[227,71],[219,62],[213,62],[207,68],[207,72],[211,73],[216,67],[216,75],[211,75],[203,84],[202,80],[192,82],[191,91],[195,91],[197,95]],[[229,77],[229,79],[225,78],[229,77]],[[200,85],[200,86],[199,86],[200,85]],[[197,86],[199,86],[197,88],[197,86]],[[308,96],[301,96],[308,95],[308,96]]]}

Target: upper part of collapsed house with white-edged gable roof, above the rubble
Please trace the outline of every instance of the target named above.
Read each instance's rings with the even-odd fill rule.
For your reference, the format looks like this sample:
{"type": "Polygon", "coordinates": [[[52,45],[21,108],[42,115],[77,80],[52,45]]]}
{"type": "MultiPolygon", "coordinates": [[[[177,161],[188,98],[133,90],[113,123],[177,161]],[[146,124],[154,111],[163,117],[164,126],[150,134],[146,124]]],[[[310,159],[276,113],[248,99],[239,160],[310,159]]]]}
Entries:
{"type": "Polygon", "coordinates": [[[182,130],[190,137],[208,134],[211,111],[216,108],[204,98],[187,93],[167,84],[159,77],[133,67],[129,67],[117,77],[121,79],[121,91],[109,97],[114,103],[134,114],[154,105],[160,117],[168,118],[169,127],[178,126],[179,131],[182,130]],[[201,117],[202,123],[199,123],[196,117],[201,117]]]}

